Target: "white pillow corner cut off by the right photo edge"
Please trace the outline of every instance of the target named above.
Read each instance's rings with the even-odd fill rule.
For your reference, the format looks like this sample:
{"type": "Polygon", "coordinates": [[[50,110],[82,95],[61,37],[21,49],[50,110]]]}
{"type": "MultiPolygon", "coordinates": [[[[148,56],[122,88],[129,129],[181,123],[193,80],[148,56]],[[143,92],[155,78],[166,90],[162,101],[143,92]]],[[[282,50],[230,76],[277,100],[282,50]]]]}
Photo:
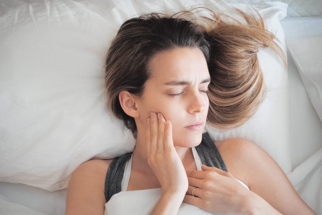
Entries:
{"type": "Polygon", "coordinates": [[[287,45],[322,122],[322,35],[292,38],[287,45]]]}

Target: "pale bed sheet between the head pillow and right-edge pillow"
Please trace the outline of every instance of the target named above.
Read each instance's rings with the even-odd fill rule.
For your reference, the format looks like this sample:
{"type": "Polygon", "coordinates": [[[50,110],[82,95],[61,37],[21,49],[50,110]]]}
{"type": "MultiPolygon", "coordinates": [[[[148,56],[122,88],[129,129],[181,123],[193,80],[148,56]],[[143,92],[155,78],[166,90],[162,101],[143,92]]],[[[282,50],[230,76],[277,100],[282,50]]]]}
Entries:
{"type": "MultiPolygon", "coordinates": [[[[285,40],[322,34],[322,16],[281,20],[285,40]]],[[[322,51],[322,50],[321,50],[322,51]]],[[[322,122],[312,106],[298,69],[288,53],[289,120],[293,170],[322,148],[322,122]]]]}

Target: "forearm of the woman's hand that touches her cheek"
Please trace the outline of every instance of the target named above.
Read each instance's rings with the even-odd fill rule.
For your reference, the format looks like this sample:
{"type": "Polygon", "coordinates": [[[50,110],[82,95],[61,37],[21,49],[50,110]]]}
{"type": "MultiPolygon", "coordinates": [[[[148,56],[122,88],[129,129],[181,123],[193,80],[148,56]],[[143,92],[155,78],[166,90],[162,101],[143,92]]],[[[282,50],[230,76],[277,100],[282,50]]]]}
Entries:
{"type": "Polygon", "coordinates": [[[185,192],[165,192],[161,195],[150,215],[177,214],[185,192]]]}

